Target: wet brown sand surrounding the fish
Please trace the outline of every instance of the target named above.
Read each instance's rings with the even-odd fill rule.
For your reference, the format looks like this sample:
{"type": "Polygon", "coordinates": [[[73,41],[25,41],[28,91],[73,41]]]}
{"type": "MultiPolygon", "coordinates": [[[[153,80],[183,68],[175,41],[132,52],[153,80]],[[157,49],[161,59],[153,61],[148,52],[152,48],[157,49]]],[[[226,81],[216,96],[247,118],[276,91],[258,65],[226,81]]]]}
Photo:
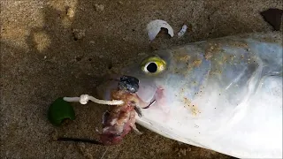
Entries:
{"type": "Polygon", "coordinates": [[[280,0],[2,0],[1,158],[232,158],[179,144],[138,126],[124,142],[105,148],[53,141],[54,136],[97,139],[107,106],[73,104],[76,120],[55,127],[47,120],[59,96],[96,95],[103,75],[152,49],[272,27],[259,11],[280,0]],[[145,31],[164,19],[175,32],[149,44],[145,31]]]}

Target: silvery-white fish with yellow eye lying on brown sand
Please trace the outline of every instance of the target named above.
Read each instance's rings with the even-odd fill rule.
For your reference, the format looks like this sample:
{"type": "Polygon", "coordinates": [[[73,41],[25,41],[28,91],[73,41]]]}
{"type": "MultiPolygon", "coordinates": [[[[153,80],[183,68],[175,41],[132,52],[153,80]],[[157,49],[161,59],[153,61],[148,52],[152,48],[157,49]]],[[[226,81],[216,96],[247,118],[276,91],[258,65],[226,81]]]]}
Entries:
{"type": "MultiPolygon", "coordinates": [[[[282,158],[282,34],[236,34],[147,53],[117,77],[140,80],[136,123],[237,158],[282,158]]],[[[112,84],[104,87],[109,99],[112,84]]]]}

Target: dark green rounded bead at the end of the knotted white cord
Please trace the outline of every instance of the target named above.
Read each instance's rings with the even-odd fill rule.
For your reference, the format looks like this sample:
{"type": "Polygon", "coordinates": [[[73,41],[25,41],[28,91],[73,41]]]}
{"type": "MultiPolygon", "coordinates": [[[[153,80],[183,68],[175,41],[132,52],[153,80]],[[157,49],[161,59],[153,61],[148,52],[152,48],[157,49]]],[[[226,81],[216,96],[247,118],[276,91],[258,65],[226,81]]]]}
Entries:
{"type": "Polygon", "coordinates": [[[73,106],[69,102],[65,102],[63,97],[57,98],[52,102],[48,110],[48,119],[52,125],[61,125],[65,119],[75,119],[73,106]]]}

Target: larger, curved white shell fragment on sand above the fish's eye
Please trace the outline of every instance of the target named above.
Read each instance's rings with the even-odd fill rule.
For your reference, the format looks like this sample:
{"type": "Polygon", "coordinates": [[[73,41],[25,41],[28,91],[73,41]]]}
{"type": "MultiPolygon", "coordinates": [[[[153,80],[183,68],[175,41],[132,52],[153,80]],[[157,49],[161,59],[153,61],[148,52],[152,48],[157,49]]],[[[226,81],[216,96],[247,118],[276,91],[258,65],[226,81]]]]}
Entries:
{"type": "Polygon", "coordinates": [[[161,30],[161,27],[168,29],[168,34],[170,34],[171,37],[174,36],[172,27],[166,21],[161,20],[161,19],[156,19],[156,20],[150,21],[147,26],[150,41],[156,38],[157,34],[161,30]]]}

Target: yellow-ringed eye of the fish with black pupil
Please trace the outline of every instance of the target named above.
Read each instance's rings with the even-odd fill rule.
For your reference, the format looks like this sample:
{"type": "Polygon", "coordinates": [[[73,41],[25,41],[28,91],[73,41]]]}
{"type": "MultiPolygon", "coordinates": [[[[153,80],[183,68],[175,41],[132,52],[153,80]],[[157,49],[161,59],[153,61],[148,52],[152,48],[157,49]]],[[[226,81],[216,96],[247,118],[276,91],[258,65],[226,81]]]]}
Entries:
{"type": "Polygon", "coordinates": [[[166,69],[166,62],[158,57],[148,57],[142,61],[142,71],[147,74],[158,74],[166,69]]]}

